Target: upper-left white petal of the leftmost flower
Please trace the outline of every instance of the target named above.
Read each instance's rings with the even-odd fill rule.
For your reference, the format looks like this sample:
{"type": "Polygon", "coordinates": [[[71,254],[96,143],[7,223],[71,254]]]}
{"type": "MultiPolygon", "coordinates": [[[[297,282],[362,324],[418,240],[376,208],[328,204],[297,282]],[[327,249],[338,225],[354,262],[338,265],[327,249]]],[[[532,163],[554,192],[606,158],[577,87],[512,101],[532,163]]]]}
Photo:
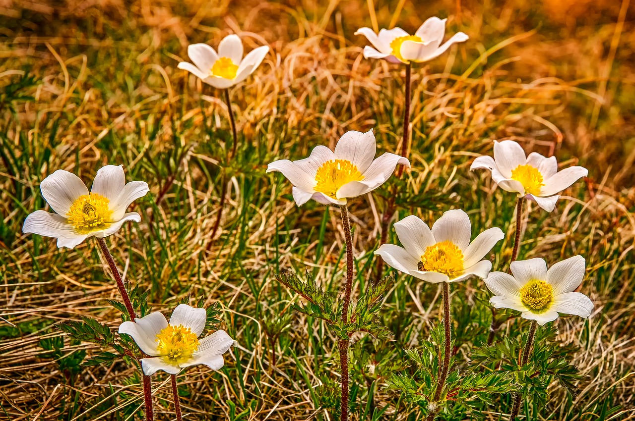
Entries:
{"type": "Polygon", "coordinates": [[[58,169],[42,180],[40,190],[46,202],[58,214],[66,216],[70,206],[80,196],[88,195],[88,188],[72,172],[58,169]]]}

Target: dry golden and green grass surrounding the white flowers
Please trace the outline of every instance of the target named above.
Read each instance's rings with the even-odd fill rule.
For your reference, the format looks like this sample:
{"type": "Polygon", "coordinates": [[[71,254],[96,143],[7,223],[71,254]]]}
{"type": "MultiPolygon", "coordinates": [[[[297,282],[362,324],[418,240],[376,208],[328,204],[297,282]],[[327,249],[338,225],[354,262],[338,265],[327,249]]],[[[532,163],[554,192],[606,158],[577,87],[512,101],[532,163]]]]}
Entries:
{"type": "MultiPolygon", "coordinates": [[[[12,152],[0,164],[0,419],[124,420],[142,404],[123,362],[72,366],[78,352],[91,356],[97,347],[65,339],[58,354],[45,349],[46,340],[63,336],[51,328],[58,321],[90,315],[112,328],[121,321],[106,301],[117,292],[93,243],[60,251],[53,240],[21,233],[23,218],[44,207],[38,185],[47,174],[62,168],[88,181],[106,163],[124,164],[126,176],[149,181],[152,193],[135,209],[144,221],[110,238],[128,280],[168,313],[189,294],[219,302],[241,344],[221,372],[194,367],[180,376],[185,419],[332,419],[324,406],[337,351],[326,328],[293,314],[278,340],[268,333],[293,299],[274,279],[280,268],[308,266],[338,285],[341,227],[334,210],[295,207],[288,183],[265,176],[265,164],[304,157],[319,143],[333,147],[349,129],[373,128],[382,150],[398,150],[401,74],[364,60],[364,39],[352,33],[373,22],[412,30],[433,14],[450,16],[448,32],[463,30],[471,40],[413,72],[412,195],[402,216],[432,220],[460,206],[479,227],[501,226],[507,237],[496,268],[510,252],[513,206],[485,175],[468,171],[473,157],[490,152],[490,139],[512,138],[556,153],[563,165],[589,167],[586,183],[568,191],[556,212],[531,210],[522,245],[525,257],[585,256],[584,288],[596,304],[589,323],[558,321],[559,338],[577,346],[572,359],[587,377],[573,401],[554,387],[539,419],[635,419],[633,8],[509,0],[465,3],[457,13],[454,1],[382,1],[371,14],[361,0],[315,3],[0,1],[0,87],[6,92],[22,75],[36,79],[24,89],[34,100],[14,101],[15,110],[0,102],[2,148],[12,152]],[[272,53],[231,91],[244,142],[223,178],[218,165],[231,139],[225,105],[176,63],[187,44],[215,45],[229,32],[242,34],[247,49],[269,44],[272,53]],[[213,239],[223,181],[231,196],[213,239]]],[[[386,194],[352,205],[362,275],[386,194]]],[[[457,288],[488,314],[482,283],[457,288]]],[[[386,419],[417,419],[415,406],[380,386],[407,364],[401,348],[426,334],[438,304],[436,288],[401,277],[385,311],[396,338],[358,342],[383,361],[357,381],[375,385],[375,405],[389,406],[386,419]]],[[[485,329],[488,320],[481,322],[485,329]]],[[[505,328],[514,334],[519,325],[505,328]]],[[[367,368],[358,361],[358,371],[367,368]]],[[[173,419],[168,377],[156,379],[157,419],[173,419]]],[[[369,398],[367,389],[359,393],[361,411],[369,398]]],[[[487,416],[499,419],[496,411],[487,416]]]]}

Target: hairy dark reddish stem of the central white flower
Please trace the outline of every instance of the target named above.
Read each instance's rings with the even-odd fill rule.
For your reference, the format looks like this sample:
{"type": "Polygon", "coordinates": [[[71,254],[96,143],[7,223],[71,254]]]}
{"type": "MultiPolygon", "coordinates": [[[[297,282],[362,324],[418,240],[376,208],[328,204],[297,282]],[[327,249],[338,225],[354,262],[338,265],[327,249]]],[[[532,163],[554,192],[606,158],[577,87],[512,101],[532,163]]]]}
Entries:
{"type": "MultiPolygon", "coordinates": [[[[344,303],[342,304],[342,324],[349,322],[349,304],[351,303],[351,291],[353,287],[353,238],[351,232],[351,219],[346,205],[340,206],[342,212],[342,228],[346,238],[346,285],[344,287],[344,303]]],[[[340,339],[337,348],[340,351],[340,366],[342,368],[342,406],[341,421],[349,419],[349,340],[340,339]]]]}

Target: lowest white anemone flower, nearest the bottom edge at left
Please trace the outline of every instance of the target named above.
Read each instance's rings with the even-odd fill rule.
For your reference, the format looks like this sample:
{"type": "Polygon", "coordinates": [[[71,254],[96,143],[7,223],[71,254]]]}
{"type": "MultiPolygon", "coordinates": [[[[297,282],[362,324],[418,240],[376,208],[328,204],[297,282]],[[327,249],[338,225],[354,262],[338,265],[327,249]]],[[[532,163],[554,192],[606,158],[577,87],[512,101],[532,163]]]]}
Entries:
{"type": "Polygon", "coordinates": [[[170,316],[170,323],[158,311],[135,321],[124,321],[119,334],[127,334],[150,358],[142,358],[145,375],[157,370],[178,374],[182,368],[203,364],[212,370],[225,365],[223,354],[237,342],[224,330],[198,339],[203,333],[207,314],[204,308],[179,304],[170,316]]]}

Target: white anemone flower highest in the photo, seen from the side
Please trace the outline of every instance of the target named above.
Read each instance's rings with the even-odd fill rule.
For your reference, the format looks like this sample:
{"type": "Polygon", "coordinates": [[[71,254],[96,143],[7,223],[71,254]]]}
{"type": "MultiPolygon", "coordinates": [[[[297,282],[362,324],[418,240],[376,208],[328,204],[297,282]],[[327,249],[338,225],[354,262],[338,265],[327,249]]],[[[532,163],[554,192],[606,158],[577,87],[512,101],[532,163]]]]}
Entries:
{"type": "Polygon", "coordinates": [[[445,36],[446,19],[429,18],[417,29],[415,35],[401,28],[382,29],[379,34],[370,28],[361,28],[356,35],[365,36],[375,48],[364,47],[365,58],[383,58],[391,63],[422,63],[445,53],[455,42],[467,41],[463,32],[453,35],[441,45],[445,36]]]}

